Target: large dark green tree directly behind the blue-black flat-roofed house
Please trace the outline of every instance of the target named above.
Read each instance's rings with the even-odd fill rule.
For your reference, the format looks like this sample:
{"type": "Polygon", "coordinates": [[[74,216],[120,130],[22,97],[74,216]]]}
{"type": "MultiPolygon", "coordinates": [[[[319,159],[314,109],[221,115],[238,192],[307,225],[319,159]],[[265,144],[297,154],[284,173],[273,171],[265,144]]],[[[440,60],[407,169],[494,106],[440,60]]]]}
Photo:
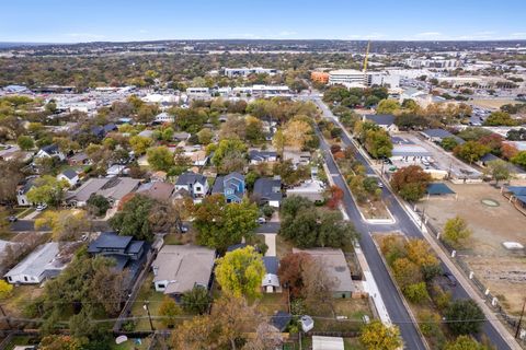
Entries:
{"type": "Polygon", "coordinates": [[[153,240],[153,231],[148,220],[153,201],[148,197],[135,195],[124,203],[123,209],[110,219],[110,225],[123,236],[136,240],[153,240]]]}

